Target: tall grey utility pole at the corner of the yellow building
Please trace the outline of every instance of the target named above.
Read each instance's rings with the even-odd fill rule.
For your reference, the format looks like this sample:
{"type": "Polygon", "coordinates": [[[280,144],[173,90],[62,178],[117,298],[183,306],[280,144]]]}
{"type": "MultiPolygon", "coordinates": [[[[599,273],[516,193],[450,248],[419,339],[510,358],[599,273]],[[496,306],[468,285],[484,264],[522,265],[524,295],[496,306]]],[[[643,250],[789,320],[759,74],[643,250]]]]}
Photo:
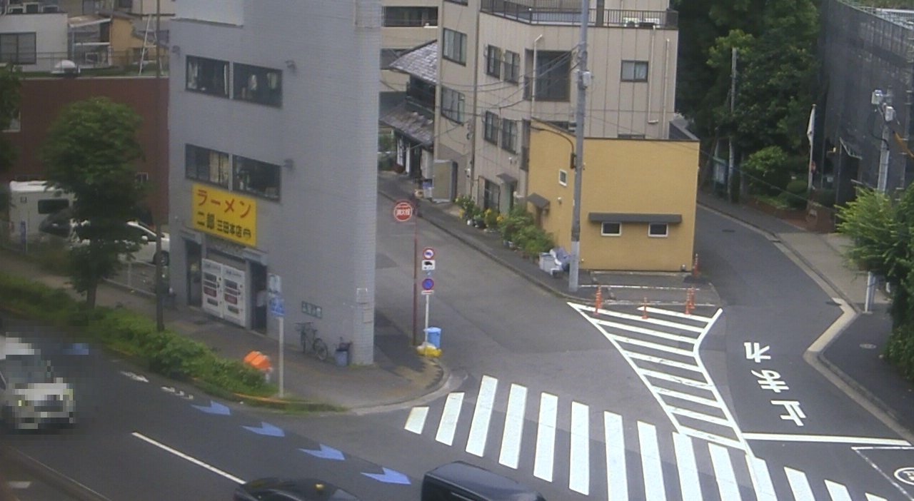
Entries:
{"type": "MultiPolygon", "coordinates": [[[[587,87],[590,71],[587,70],[587,27],[590,23],[590,0],[580,2],[580,42],[578,46],[578,112],[575,114],[575,168],[574,200],[571,207],[571,263],[569,266],[569,293],[578,292],[580,266],[580,188],[584,176],[584,114],[587,112],[587,87]]],[[[536,75],[534,75],[536,78],[536,75]]]]}

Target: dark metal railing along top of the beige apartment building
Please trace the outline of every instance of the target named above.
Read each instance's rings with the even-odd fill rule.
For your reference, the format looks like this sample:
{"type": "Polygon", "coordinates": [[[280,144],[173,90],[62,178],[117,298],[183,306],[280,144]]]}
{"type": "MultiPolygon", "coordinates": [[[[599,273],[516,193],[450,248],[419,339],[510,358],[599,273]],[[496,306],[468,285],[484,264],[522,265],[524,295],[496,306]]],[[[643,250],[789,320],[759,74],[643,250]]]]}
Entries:
{"type": "MultiPolygon", "coordinates": [[[[579,25],[577,0],[483,0],[482,11],[531,25],[579,25]]],[[[679,24],[675,10],[589,9],[591,27],[658,27],[674,29],[679,24]]]]}

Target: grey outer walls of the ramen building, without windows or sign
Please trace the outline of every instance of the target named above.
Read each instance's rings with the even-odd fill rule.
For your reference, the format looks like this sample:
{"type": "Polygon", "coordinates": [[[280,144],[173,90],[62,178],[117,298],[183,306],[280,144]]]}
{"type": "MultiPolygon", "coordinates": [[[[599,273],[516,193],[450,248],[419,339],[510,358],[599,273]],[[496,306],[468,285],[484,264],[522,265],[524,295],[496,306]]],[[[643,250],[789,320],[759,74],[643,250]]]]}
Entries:
{"type": "MultiPolygon", "coordinates": [[[[199,15],[209,1],[182,0],[179,16],[185,5],[199,15]]],[[[290,342],[297,340],[295,323],[314,321],[328,343],[354,342],[356,363],[371,363],[378,82],[364,76],[377,75],[380,2],[243,6],[243,26],[180,18],[171,25],[172,46],[180,48],[170,61],[172,234],[182,229],[180,235],[205,248],[221,240],[192,228],[186,144],[287,165],[280,199],[257,200],[257,241],[242,254],[282,276],[290,342]],[[281,70],[282,106],[187,91],[186,56],[281,70]],[[323,318],[301,313],[303,301],[320,305],[323,318]]],[[[188,240],[172,240],[172,284],[183,303],[188,240]]],[[[269,332],[277,335],[272,319],[269,332]]]]}

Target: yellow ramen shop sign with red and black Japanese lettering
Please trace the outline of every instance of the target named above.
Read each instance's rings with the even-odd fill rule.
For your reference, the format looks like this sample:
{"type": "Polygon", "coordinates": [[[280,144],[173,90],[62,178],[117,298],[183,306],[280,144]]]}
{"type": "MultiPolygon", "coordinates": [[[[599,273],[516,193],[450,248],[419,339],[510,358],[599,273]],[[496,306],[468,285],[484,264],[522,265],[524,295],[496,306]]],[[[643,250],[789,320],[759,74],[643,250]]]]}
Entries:
{"type": "Polygon", "coordinates": [[[243,245],[257,245],[257,200],[194,183],[191,217],[194,229],[243,245]]]}

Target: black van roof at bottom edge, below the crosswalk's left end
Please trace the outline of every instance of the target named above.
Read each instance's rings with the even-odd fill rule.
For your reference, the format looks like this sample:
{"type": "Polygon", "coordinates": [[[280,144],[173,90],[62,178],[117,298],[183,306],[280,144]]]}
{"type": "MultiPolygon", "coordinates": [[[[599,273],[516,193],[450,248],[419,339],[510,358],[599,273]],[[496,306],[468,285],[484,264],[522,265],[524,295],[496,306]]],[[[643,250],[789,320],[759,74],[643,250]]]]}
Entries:
{"type": "Polygon", "coordinates": [[[455,461],[443,464],[425,474],[432,478],[459,485],[476,496],[497,501],[546,501],[537,491],[500,474],[473,464],[455,461]]]}

